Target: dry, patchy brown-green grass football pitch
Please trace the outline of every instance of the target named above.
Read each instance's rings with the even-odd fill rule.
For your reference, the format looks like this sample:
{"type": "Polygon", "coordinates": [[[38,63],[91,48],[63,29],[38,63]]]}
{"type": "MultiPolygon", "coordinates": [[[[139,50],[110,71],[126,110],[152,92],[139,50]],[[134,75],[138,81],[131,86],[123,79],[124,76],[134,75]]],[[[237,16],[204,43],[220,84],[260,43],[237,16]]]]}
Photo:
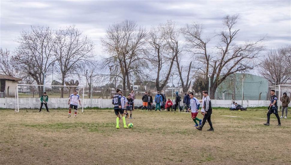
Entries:
{"type": "Polygon", "coordinates": [[[118,130],[113,110],[50,111],[0,110],[1,165],[291,164],[290,118],[265,126],[263,109],[213,110],[214,132],[196,130],[189,113],[135,110],[134,128],[118,130]]]}

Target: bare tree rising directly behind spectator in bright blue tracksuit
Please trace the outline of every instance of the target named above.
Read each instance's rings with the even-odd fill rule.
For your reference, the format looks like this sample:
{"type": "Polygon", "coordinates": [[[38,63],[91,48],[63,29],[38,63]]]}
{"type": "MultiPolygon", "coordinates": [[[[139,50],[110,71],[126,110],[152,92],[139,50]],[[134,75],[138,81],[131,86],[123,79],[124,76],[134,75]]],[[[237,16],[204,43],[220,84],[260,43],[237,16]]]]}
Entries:
{"type": "Polygon", "coordinates": [[[153,27],[149,32],[149,61],[157,69],[155,82],[158,91],[167,85],[176,57],[180,53],[178,37],[179,33],[172,21],[160,24],[157,28],[153,27]]]}

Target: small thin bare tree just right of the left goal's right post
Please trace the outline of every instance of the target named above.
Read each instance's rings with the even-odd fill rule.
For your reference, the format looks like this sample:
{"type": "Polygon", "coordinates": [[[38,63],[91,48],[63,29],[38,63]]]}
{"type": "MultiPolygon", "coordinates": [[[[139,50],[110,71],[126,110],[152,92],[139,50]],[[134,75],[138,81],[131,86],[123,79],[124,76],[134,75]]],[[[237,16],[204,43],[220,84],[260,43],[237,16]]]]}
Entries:
{"type": "Polygon", "coordinates": [[[89,87],[89,93],[88,96],[89,98],[91,97],[91,89],[92,89],[92,83],[96,81],[98,78],[98,63],[96,61],[88,62],[88,63],[83,63],[81,65],[82,68],[82,73],[81,75],[85,77],[86,79],[86,84],[89,87]]]}

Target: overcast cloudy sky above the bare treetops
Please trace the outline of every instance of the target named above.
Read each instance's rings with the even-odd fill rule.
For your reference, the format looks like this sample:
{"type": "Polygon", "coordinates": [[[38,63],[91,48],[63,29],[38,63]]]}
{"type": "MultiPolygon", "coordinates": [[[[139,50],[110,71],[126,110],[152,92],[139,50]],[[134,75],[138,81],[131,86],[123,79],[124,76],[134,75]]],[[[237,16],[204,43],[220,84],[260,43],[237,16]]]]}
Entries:
{"type": "Polygon", "coordinates": [[[205,36],[222,27],[226,14],[240,15],[237,41],[254,41],[267,35],[267,48],[290,45],[290,1],[3,1],[1,0],[1,48],[13,51],[15,39],[31,25],[60,28],[75,25],[96,44],[113,22],[125,19],[150,28],[174,20],[182,27],[204,24],[205,36]]]}

